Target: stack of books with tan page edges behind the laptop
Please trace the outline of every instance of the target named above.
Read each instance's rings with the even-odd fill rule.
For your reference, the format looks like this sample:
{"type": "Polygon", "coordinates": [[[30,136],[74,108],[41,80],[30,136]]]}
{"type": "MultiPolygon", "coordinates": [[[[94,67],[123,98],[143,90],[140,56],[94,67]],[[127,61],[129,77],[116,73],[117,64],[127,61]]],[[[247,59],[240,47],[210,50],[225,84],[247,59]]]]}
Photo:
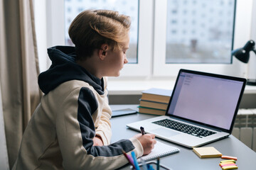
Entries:
{"type": "Polygon", "coordinates": [[[171,93],[171,90],[156,88],[142,91],[142,98],[139,101],[139,113],[165,115],[171,93]]]}

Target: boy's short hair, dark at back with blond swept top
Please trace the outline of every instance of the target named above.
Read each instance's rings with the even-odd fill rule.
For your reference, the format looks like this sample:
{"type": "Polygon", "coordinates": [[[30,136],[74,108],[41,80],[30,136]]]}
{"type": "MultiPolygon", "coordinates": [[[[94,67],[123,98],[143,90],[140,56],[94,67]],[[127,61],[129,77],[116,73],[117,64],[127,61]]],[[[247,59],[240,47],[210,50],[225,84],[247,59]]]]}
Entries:
{"type": "Polygon", "coordinates": [[[121,50],[124,40],[129,38],[131,21],[129,16],[109,10],[82,11],[71,23],[68,33],[75,44],[77,60],[91,57],[102,44],[113,51],[121,50]]]}

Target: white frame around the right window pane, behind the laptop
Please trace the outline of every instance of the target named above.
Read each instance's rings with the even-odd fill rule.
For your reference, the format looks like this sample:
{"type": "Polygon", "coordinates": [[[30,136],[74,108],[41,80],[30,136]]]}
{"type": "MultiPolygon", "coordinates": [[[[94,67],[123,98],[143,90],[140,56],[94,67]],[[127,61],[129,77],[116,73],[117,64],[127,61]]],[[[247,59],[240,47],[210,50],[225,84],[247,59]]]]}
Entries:
{"type": "MultiPolygon", "coordinates": [[[[171,76],[175,77],[178,70],[193,69],[202,72],[213,72],[216,74],[228,74],[244,77],[247,74],[245,64],[241,64],[233,58],[231,64],[166,64],[166,12],[167,0],[155,1],[155,23],[154,23],[154,70],[155,77],[171,76]],[[158,34],[156,34],[158,33],[158,34]]],[[[250,40],[250,26],[252,1],[237,0],[235,14],[235,33],[233,38],[233,48],[242,47],[247,40],[250,40]],[[247,13],[243,13],[247,11],[247,13]],[[241,15],[244,14],[244,15],[241,15]],[[247,18],[247,19],[245,19],[247,18]]]]}

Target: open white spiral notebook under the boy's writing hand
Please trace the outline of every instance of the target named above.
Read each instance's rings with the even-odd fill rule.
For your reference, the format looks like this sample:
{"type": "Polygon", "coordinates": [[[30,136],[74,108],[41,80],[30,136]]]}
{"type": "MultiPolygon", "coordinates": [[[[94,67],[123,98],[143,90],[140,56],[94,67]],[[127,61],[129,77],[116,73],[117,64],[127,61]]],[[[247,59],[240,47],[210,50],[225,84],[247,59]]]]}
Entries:
{"type": "Polygon", "coordinates": [[[154,149],[151,150],[151,152],[147,155],[144,155],[142,157],[139,157],[138,162],[141,163],[142,159],[145,162],[157,159],[158,157],[165,157],[170,154],[176,154],[180,151],[178,147],[173,147],[171,145],[166,145],[162,142],[157,141],[156,145],[154,145],[154,149]]]}

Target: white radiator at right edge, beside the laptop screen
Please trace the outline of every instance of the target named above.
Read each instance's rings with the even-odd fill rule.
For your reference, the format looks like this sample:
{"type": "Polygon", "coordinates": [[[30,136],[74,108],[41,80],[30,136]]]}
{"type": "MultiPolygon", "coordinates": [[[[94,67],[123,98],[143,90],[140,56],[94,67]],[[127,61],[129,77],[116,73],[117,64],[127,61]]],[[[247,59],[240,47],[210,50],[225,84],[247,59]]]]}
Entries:
{"type": "Polygon", "coordinates": [[[232,135],[256,152],[256,108],[239,109],[232,135]]]}

